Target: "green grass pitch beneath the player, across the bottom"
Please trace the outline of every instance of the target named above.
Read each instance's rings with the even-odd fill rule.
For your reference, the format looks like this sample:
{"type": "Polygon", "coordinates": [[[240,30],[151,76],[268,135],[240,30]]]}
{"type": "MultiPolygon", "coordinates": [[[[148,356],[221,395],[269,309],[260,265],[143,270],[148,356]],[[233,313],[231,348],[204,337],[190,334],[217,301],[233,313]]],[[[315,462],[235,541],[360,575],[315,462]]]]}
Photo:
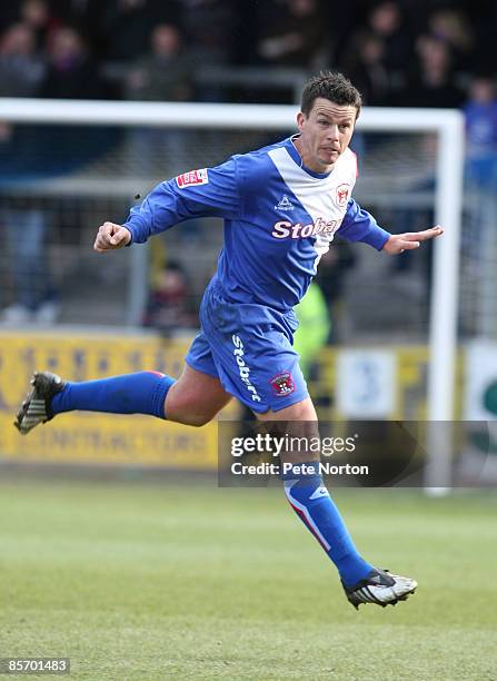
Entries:
{"type": "Polygon", "coordinates": [[[4,482],[0,657],[96,681],[496,680],[496,500],[336,499],[372,562],[417,578],[407,603],[356,612],[279,490],[4,482]]]}

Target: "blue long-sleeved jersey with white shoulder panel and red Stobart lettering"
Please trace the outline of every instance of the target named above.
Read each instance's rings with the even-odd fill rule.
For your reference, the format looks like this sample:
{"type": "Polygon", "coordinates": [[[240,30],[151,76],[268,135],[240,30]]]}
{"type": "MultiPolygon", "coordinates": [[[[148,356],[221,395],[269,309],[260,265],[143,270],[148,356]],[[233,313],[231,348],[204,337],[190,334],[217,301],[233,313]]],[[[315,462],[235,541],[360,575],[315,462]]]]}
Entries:
{"type": "Polygon", "coordinates": [[[349,149],[331,172],[317,174],[288,138],[161,182],[125,226],[132,243],[143,243],[189,218],[223,218],[218,288],[233,303],[285,312],[304,297],[335,234],[378,250],[389,238],[351,198],[356,176],[349,149]]]}

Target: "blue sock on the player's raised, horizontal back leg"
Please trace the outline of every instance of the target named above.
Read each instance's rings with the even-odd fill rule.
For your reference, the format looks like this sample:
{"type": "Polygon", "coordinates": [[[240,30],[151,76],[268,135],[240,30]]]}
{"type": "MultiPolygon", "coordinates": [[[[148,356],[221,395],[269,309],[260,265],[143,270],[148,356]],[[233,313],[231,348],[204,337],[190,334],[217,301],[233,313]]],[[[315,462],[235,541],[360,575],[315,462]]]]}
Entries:
{"type": "Polygon", "coordinates": [[[163,401],[171,385],[170,376],[158,372],[139,372],[100,381],[66,383],[50,405],[54,414],[80,409],[111,414],[150,414],[166,418],[163,401]]]}

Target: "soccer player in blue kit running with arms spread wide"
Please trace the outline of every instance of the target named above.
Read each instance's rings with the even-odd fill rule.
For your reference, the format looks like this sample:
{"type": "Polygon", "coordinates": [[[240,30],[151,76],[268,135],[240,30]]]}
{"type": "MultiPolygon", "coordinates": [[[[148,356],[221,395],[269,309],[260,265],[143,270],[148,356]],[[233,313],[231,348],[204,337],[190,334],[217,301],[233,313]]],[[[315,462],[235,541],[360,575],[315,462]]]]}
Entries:
{"type": "MultiPolygon", "coordinates": [[[[298,134],[163,181],[123,225],[105,223],[98,253],[141,244],[188,218],[225,219],[225,246],[200,306],[201,330],[177,381],[140,372],[70,383],[36,373],[18,430],[29,433],[73,409],[200,426],[235,396],[262,422],[300,424],[300,435],[316,435],[316,411],[292,347],[292,307],[334,235],[395,255],[443,233],[391,235],[351,198],[357,164],[348,147],[360,107],[350,81],[321,72],[304,89],[298,134]]],[[[324,485],[318,454],[285,452],[281,462],[292,464],[284,476],[288,501],[335,563],[352,605],[395,604],[415,591],[415,580],[377,569],[357,551],[324,485]]]]}

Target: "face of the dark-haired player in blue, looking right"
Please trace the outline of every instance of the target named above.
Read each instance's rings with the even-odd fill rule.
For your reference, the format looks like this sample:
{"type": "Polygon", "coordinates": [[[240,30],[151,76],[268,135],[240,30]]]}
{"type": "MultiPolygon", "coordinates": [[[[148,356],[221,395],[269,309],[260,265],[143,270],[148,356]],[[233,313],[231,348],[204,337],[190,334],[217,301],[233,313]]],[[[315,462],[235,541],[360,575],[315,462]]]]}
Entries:
{"type": "Polygon", "coordinates": [[[296,140],[304,165],[315,172],[329,172],[349,146],[356,124],[356,107],[337,105],[318,97],[309,115],[300,112],[296,140]]]}

